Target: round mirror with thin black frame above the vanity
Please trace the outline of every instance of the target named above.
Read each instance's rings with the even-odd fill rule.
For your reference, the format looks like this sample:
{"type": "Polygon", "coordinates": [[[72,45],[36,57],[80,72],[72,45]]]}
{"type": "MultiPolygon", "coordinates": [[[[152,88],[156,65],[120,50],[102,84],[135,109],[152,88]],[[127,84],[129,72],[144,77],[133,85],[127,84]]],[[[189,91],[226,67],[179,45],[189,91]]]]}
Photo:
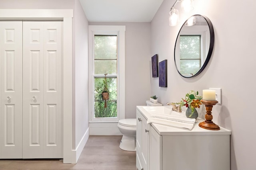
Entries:
{"type": "Polygon", "coordinates": [[[190,78],[204,70],[212,55],[214,30],[209,18],[191,16],[182,25],[174,48],[174,61],[179,74],[190,78]]]}

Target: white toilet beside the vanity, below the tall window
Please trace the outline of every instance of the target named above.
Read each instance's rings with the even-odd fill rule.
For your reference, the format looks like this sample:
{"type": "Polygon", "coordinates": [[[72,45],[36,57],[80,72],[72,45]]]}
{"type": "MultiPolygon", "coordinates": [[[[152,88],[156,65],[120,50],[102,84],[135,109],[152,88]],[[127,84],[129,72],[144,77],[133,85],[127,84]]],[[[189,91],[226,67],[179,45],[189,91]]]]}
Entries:
{"type": "MultiPolygon", "coordinates": [[[[146,106],[162,106],[160,103],[146,101],[146,106]]],[[[120,142],[120,149],[127,151],[136,151],[136,119],[120,119],[117,125],[123,134],[120,142]]]]}

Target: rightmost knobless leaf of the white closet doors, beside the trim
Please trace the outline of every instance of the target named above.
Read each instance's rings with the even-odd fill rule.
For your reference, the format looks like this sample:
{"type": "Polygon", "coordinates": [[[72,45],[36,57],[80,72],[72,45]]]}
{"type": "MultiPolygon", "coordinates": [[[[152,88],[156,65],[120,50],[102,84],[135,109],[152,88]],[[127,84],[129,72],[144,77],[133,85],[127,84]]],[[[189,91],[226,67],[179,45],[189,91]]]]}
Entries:
{"type": "Polygon", "coordinates": [[[44,22],[44,156],[62,158],[62,22],[44,22]]]}

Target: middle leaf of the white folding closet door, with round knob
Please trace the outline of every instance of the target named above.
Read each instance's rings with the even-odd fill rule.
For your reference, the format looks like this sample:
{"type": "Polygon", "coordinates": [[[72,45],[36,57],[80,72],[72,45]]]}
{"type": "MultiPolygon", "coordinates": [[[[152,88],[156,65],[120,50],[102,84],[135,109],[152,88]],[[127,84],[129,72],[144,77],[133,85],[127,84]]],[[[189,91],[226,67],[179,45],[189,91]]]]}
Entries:
{"type": "Polygon", "coordinates": [[[23,22],[23,158],[44,155],[43,22],[23,22]]]}

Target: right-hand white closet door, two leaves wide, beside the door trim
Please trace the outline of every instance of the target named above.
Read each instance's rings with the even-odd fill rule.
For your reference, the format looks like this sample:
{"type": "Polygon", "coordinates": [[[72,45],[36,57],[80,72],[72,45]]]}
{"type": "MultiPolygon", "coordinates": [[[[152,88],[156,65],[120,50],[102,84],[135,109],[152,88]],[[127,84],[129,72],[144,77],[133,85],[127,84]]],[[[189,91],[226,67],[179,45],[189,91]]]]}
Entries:
{"type": "Polygon", "coordinates": [[[62,158],[62,22],[23,22],[22,158],[62,158]]]}

